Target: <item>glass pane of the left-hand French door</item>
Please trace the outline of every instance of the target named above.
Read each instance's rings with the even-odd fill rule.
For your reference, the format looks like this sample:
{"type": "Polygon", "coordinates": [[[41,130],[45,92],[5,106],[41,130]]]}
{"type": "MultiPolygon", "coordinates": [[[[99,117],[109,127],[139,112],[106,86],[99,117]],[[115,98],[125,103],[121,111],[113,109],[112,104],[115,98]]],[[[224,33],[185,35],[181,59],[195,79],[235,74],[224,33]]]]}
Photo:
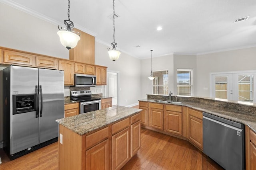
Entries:
{"type": "Polygon", "coordinates": [[[215,77],[215,98],[227,99],[228,76],[215,77]]]}

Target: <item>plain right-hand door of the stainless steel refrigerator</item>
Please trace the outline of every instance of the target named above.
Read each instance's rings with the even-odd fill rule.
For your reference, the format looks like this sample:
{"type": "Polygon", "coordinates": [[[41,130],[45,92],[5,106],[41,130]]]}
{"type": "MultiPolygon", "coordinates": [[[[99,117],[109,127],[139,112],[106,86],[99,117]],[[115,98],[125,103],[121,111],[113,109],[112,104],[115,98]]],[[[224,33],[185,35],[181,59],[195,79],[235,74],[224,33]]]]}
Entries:
{"type": "Polygon", "coordinates": [[[64,72],[39,69],[39,143],[58,137],[64,117],[64,72]]]}

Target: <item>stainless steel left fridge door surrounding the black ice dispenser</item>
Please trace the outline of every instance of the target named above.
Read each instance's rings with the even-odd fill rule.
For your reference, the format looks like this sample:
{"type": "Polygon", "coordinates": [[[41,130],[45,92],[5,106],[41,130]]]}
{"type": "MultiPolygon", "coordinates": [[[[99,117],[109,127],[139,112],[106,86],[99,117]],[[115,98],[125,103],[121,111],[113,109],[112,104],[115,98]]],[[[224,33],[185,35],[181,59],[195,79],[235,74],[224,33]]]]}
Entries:
{"type": "Polygon", "coordinates": [[[14,94],[35,94],[38,68],[10,66],[10,154],[39,144],[36,111],[13,115],[14,94]]]}

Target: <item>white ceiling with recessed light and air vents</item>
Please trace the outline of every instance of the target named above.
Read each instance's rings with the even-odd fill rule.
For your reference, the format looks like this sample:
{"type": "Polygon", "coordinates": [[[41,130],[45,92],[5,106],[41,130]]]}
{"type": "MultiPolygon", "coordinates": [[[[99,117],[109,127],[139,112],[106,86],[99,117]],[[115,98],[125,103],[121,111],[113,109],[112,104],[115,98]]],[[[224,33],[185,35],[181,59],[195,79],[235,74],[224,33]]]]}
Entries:
{"type": "MultiPolygon", "coordinates": [[[[56,31],[68,19],[67,0],[0,2],[55,23],[56,31]]],[[[159,57],[256,46],[256,0],[115,0],[115,12],[117,48],[139,59],[150,58],[151,49],[159,57]],[[248,20],[234,23],[246,16],[248,20]]],[[[112,15],[112,0],[70,0],[74,26],[108,46],[113,42],[112,15]]]]}

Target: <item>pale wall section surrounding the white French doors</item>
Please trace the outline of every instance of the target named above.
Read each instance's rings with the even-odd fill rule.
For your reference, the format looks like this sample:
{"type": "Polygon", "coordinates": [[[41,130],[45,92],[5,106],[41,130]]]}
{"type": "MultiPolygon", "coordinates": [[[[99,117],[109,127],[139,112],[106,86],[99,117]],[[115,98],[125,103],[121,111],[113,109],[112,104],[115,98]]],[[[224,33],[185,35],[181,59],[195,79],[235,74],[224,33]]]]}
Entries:
{"type": "Polygon", "coordinates": [[[211,72],[256,70],[256,47],[198,55],[196,58],[197,96],[210,96],[211,72]]]}

